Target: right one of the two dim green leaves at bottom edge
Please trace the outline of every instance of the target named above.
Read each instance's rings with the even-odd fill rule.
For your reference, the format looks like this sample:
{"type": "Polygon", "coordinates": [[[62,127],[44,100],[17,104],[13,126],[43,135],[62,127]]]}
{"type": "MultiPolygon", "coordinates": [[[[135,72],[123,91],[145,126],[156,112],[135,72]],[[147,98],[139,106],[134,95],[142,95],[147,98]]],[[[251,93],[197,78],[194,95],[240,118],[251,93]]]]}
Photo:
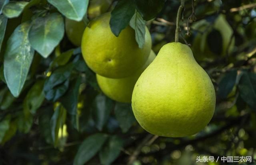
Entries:
{"type": "Polygon", "coordinates": [[[102,165],[111,165],[111,163],[119,156],[123,143],[123,139],[118,136],[111,136],[100,150],[100,163],[102,165]]]}

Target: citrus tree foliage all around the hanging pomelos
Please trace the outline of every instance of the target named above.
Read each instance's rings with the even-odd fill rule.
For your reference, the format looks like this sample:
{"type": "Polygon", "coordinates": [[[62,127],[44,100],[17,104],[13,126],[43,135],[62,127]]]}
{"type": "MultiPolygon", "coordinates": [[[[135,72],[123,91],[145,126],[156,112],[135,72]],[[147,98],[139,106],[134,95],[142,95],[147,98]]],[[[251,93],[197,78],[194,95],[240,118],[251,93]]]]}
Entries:
{"type": "MultiPolygon", "coordinates": [[[[255,0],[196,0],[194,6],[185,1],[180,42],[191,46],[217,96],[210,124],[185,138],[149,134],[131,104],[100,91],[64,29],[65,18],[87,24],[92,1],[97,0],[0,0],[0,164],[187,165],[202,155],[255,159],[255,0]]],[[[114,0],[98,15],[111,12],[116,36],[132,27],[139,47],[148,26],[158,53],[174,41],[179,5],[114,0]]]]}

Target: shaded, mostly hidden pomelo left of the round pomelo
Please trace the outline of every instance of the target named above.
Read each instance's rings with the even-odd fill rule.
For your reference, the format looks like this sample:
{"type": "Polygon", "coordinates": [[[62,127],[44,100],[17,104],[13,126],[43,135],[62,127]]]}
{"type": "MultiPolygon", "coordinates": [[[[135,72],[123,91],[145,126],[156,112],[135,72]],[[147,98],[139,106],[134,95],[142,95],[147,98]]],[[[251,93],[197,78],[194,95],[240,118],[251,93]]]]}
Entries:
{"type": "Polygon", "coordinates": [[[65,30],[68,39],[76,46],[81,45],[85,27],[86,25],[84,24],[83,20],[77,22],[68,18],[65,19],[65,30]]]}

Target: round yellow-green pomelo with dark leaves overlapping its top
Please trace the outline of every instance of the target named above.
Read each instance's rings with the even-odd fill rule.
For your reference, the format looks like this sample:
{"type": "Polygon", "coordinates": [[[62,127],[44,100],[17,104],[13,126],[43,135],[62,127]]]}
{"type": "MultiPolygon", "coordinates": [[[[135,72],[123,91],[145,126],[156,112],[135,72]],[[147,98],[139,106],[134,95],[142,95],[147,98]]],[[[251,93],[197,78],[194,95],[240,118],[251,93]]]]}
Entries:
{"type": "Polygon", "coordinates": [[[82,37],[82,55],[98,75],[124,78],[146,63],[151,50],[151,37],[146,28],[143,49],[138,47],[135,31],[126,27],[116,37],[109,26],[110,13],[102,14],[88,24],[82,37]]]}

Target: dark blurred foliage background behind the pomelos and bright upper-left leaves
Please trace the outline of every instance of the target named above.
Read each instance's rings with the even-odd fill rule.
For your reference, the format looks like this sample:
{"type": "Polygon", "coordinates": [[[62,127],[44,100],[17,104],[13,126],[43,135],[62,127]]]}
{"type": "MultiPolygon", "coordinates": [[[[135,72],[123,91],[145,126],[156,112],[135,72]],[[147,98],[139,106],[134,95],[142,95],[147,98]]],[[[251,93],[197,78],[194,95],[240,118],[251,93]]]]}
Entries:
{"type": "MultiPolygon", "coordinates": [[[[112,10],[115,4],[103,12],[112,10]]],[[[166,0],[156,18],[147,22],[155,53],[174,41],[179,5],[178,0],[166,0]]],[[[42,6],[54,10],[48,3],[42,6]]],[[[255,6],[255,0],[196,0],[193,8],[192,0],[185,1],[180,42],[191,46],[196,60],[210,75],[217,96],[210,124],[185,138],[158,137],[143,130],[130,104],[114,102],[102,94],[79,47],[72,45],[66,35],[48,58],[35,54],[18,98],[12,96],[4,82],[1,51],[0,164],[71,165],[80,164],[80,159],[86,159],[88,165],[225,164],[196,163],[198,156],[252,156],[251,164],[256,164],[255,6]],[[192,19],[187,22],[189,17],[192,19]],[[75,64],[75,69],[54,87],[55,91],[62,87],[67,91],[57,99],[44,99],[42,90],[47,83],[50,85],[45,81],[49,71],[50,77],[60,77],[69,71],[70,63],[75,64]],[[73,97],[70,91],[77,91],[79,97],[73,97]],[[78,102],[74,109],[78,113],[67,112],[64,107],[71,105],[62,105],[65,102],[78,102]]],[[[30,10],[41,8],[32,6],[30,10]]],[[[2,50],[26,16],[23,12],[8,20],[2,50]]]]}

